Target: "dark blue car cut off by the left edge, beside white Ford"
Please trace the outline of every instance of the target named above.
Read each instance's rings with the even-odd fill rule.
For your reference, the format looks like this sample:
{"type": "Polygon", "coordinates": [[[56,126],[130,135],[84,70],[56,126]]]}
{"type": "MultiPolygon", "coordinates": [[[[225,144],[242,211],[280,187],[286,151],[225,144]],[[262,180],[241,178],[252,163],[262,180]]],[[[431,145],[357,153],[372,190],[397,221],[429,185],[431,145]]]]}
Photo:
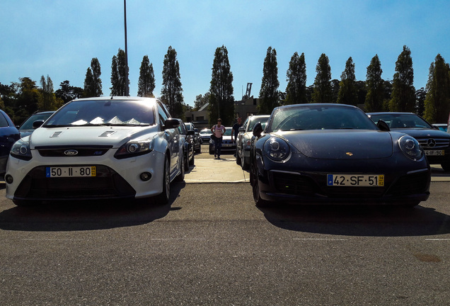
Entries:
{"type": "Polygon", "coordinates": [[[0,174],[6,171],[9,151],[21,135],[9,116],[0,110],[0,174]]]}

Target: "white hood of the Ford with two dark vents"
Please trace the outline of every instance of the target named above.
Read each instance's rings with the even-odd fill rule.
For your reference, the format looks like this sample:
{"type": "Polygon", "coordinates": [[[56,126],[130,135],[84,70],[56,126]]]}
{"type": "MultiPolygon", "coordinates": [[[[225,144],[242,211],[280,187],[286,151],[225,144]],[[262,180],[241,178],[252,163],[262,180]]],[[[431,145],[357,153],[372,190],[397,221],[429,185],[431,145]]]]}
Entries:
{"type": "Polygon", "coordinates": [[[158,133],[153,126],[78,126],[37,128],[30,135],[30,149],[42,146],[112,145],[120,147],[134,138],[151,137],[158,133]]]}

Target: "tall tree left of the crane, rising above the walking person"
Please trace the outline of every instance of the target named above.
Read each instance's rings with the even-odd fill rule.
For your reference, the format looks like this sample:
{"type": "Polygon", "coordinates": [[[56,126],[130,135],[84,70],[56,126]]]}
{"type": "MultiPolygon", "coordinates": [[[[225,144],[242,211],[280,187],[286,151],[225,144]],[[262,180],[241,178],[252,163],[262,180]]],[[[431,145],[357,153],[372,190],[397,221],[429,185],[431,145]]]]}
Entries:
{"type": "Polygon", "coordinates": [[[224,45],[214,52],[209,93],[209,123],[212,125],[221,118],[224,125],[231,125],[234,119],[233,73],[224,45]]]}

